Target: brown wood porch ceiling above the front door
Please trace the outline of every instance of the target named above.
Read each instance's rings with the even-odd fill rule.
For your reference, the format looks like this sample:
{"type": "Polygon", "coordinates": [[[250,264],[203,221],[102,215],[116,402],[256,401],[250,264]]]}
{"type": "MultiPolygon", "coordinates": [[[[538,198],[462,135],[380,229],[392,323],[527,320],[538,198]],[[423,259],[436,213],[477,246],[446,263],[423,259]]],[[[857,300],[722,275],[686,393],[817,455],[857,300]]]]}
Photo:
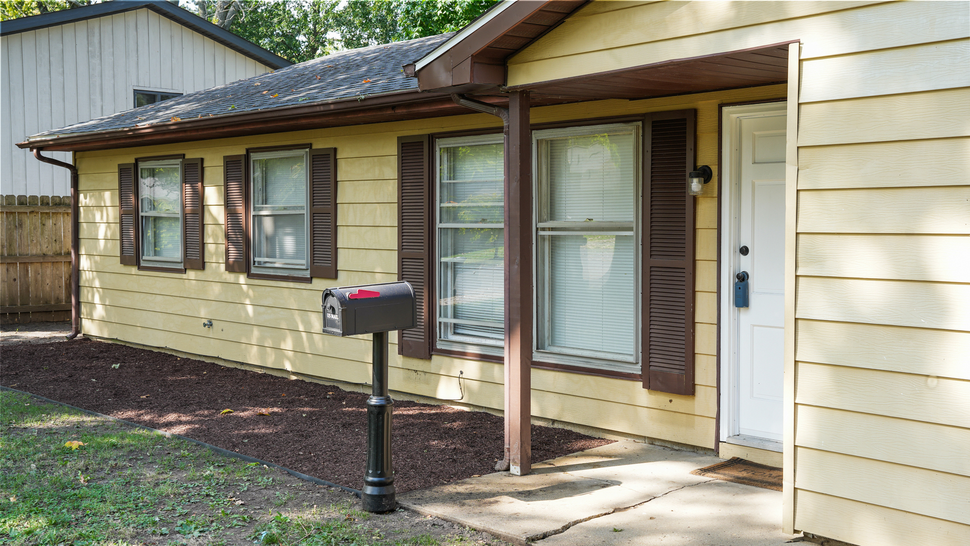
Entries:
{"type": "Polygon", "coordinates": [[[646,99],[788,80],[788,43],[506,87],[538,102],[646,99]]]}

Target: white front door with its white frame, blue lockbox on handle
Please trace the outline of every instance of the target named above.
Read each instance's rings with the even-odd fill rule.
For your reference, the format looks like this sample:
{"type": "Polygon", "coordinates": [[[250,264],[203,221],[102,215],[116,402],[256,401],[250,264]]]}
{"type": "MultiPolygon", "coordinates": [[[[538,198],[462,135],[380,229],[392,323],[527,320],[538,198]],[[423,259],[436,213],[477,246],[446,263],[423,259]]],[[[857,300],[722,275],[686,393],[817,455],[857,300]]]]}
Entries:
{"type": "MultiPolygon", "coordinates": [[[[727,346],[733,405],[727,441],[780,449],[785,351],[785,128],[784,104],[730,112],[731,233],[723,249],[728,266],[723,306],[731,337],[727,346]],[[757,110],[757,109],[756,109],[757,110]],[[742,113],[746,112],[746,113],[742,113]],[[734,281],[747,273],[748,306],[734,305],[734,281]],[[732,358],[730,358],[732,357],[732,358]],[[754,443],[752,443],[754,442],[754,443]]],[[[724,354],[724,353],[722,353],[724,354]]],[[[727,386],[727,385],[726,385],[727,386]]]]}

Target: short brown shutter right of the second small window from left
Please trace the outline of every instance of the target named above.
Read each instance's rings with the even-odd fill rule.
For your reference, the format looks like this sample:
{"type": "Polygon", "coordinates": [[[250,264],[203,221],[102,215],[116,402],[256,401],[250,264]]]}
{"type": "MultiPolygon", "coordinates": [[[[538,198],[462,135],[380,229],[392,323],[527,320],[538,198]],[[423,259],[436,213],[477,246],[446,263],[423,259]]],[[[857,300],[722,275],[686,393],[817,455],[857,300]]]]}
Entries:
{"type": "Polygon", "coordinates": [[[337,278],[337,148],[309,150],[309,275],[337,278]]]}

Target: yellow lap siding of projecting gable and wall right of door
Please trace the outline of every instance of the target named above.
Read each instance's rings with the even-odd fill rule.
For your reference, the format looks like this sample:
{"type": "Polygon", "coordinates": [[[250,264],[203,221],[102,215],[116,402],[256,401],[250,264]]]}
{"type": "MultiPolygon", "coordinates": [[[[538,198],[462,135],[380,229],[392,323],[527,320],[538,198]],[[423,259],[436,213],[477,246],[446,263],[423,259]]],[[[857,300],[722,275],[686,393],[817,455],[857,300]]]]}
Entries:
{"type": "Polygon", "coordinates": [[[970,532],[968,34],[965,2],[597,1],[509,60],[519,85],[800,41],[786,531],[970,532]]]}

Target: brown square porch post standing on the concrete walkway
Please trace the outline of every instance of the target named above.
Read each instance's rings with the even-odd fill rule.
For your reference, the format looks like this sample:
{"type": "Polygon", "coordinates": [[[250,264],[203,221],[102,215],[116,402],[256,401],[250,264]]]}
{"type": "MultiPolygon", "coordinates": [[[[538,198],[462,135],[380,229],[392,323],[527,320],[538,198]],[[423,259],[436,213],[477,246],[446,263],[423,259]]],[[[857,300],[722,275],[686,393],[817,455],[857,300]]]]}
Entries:
{"type": "Polygon", "coordinates": [[[508,97],[505,137],[505,461],[532,470],[533,144],[529,91],[508,97]]]}

